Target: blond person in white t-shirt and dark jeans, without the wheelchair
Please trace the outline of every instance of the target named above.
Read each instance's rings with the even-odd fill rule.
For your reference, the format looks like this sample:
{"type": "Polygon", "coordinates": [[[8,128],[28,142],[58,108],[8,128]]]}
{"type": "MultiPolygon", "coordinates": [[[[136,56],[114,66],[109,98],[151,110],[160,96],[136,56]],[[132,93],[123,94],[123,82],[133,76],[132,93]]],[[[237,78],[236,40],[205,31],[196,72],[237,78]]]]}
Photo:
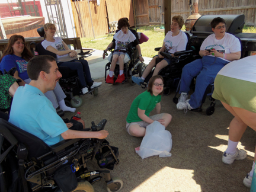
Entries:
{"type": "MultiPolygon", "coordinates": [[[[74,57],[77,55],[75,50],[69,49],[66,43],[60,38],[55,37],[56,27],[52,23],[46,23],[44,27],[44,40],[41,44],[44,49],[56,54],[57,59],[63,56],[74,57]]],[[[67,66],[71,70],[76,70],[78,73],[79,81],[82,86],[82,94],[88,92],[88,88],[94,88],[101,85],[101,82],[94,82],[91,78],[91,72],[89,71],[89,65],[87,60],[72,60],[71,62],[57,62],[57,66],[67,66]],[[85,73],[85,75],[84,75],[85,73]],[[86,81],[85,81],[86,80],[86,81]]]]}

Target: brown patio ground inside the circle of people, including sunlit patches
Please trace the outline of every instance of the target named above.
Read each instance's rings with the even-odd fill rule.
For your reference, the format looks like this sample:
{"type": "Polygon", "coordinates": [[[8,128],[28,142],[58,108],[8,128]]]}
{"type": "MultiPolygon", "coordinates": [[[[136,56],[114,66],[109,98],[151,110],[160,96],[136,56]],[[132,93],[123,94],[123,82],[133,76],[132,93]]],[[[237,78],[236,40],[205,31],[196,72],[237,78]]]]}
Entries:
{"type": "MultiPolygon", "coordinates": [[[[121,191],[249,191],[242,180],[251,170],[256,134],[248,127],[241,139],[239,147],[249,152],[247,159],[235,161],[232,165],[223,164],[222,153],[228,143],[228,127],[233,117],[219,101],[215,113],[206,116],[205,110],[210,105],[208,100],[202,113],[188,111],[185,114],[172,103],[174,91],[163,96],[161,112],[172,115],[167,127],[172,134],[172,156],[141,159],[135,148],[140,146],[142,138],[129,136],[125,126],[132,101],[145,89],[128,83],[105,84],[104,78],[97,81],[103,82],[99,94],[84,95],[84,103],[76,111],[81,111],[87,127],[91,126],[91,121],[98,123],[107,119],[105,130],[110,133],[107,140],[110,145],[118,147],[120,153],[120,164],[111,175],[123,180],[121,191]]],[[[65,117],[72,115],[66,113],[65,117]]],[[[97,163],[88,162],[88,168],[98,169],[97,163]]],[[[104,182],[94,184],[98,192],[107,191],[105,187],[104,182]]]]}

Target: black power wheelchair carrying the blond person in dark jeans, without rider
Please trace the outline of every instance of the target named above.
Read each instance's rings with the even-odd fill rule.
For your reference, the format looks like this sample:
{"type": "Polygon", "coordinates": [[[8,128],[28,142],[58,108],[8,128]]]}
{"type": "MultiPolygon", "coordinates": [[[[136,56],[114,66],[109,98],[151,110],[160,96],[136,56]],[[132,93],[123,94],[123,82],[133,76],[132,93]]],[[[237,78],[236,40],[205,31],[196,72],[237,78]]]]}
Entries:
{"type": "MultiPolygon", "coordinates": [[[[39,33],[40,37],[44,37],[43,27],[37,28],[37,33],[39,33]]],[[[38,55],[50,55],[56,58],[56,54],[45,50],[41,43],[36,44],[32,42],[31,44],[34,44],[36,47],[34,52],[38,53],[38,55]]],[[[82,56],[79,59],[84,59],[85,57],[91,56],[91,51],[84,52],[83,49],[81,49],[78,55],[82,56]]],[[[68,107],[80,107],[82,105],[82,98],[80,98],[79,95],[82,95],[82,86],[77,72],[69,69],[67,66],[59,66],[59,71],[62,73],[62,78],[60,78],[59,84],[66,94],[65,104],[68,107]]],[[[92,89],[88,88],[86,94],[98,95],[98,87],[92,89]]]]}

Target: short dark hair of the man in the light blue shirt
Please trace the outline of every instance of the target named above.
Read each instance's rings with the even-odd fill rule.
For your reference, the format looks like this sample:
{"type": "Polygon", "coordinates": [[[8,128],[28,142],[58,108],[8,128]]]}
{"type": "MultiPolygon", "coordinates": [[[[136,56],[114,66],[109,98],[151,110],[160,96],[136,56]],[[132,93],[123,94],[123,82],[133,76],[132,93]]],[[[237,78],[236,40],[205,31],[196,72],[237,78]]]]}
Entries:
{"type": "Polygon", "coordinates": [[[50,73],[52,65],[49,62],[53,62],[54,60],[55,57],[49,55],[39,55],[30,59],[27,64],[29,78],[31,80],[37,80],[41,71],[50,73]]]}

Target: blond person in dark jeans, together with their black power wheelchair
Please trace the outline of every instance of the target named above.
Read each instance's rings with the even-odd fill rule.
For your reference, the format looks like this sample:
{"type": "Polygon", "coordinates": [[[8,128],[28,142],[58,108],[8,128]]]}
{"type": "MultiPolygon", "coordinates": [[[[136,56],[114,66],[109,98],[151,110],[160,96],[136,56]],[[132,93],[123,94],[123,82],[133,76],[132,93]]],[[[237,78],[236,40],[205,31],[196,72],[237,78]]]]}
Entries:
{"type": "Polygon", "coordinates": [[[43,27],[38,28],[37,32],[45,40],[42,43],[36,44],[36,50],[39,55],[51,55],[58,59],[67,57],[66,62],[57,62],[59,71],[62,73],[62,78],[59,83],[65,92],[67,98],[65,102],[72,107],[80,107],[82,98],[79,95],[91,93],[98,95],[98,87],[101,82],[94,82],[91,78],[91,72],[87,60],[84,59],[85,53],[77,53],[75,50],[70,50],[69,47],[60,37],[54,37],[56,26],[52,23],[46,23],[43,27]],[[76,59],[77,55],[83,56],[76,59]],[[74,57],[72,59],[72,57],[74,57]]]}

